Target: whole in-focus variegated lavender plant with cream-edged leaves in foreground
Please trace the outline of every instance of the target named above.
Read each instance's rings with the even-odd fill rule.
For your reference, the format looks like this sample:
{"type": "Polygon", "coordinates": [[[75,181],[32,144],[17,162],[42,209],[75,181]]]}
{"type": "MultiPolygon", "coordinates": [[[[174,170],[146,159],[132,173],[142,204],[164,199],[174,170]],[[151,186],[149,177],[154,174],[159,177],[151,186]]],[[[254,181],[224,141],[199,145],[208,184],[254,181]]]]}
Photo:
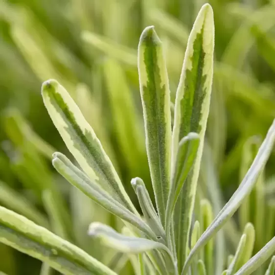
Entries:
{"type": "MultiPolygon", "coordinates": [[[[213,11],[209,4],[205,4],[188,38],[174,117],[171,117],[162,44],[153,26],[145,28],[141,34],[138,75],[146,150],[155,195],[155,202],[152,202],[147,191],[150,183],[144,183],[138,177],[132,180],[142,216],[69,93],[56,80],[48,80],[42,86],[46,109],[80,166],[78,168],[65,155],[56,152],[52,160],[54,168],[124,223],[121,233],[107,225],[92,223],[88,234],[101,240],[103,246],[128,255],[137,254],[131,256],[131,262],[140,275],[249,275],[275,252],[274,237],[251,258],[255,229],[249,222],[244,225],[236,252],[229,257],[227,265],[214,259],[212,240],[247,200],[257,182],[273,148],[275,122],[238,189],[218,215],[213,218],[207,200],[201,201],[199,211],[195,211],[210,104],[213,50],[213,11]],[[215,265],[226,269],[215,269],[215,265]]],[[[131,152],[128,153],[131,156],[131,152]]],[[[54,197],[46,193],[44,199],[48,202],[49,212],[54,212],[54,207],[51,207],[54,206],[54,197]]],[[[32,215],[30,209],[29,216],[32,215]]],[[[0,207],[0,242],[43,261],[43,274],[47,274],[49,268],[66,275],[116,274],[60,235],[0,207]]],[[[274,274],[274,270],[273,256],[266,275],[274,274]]]]}

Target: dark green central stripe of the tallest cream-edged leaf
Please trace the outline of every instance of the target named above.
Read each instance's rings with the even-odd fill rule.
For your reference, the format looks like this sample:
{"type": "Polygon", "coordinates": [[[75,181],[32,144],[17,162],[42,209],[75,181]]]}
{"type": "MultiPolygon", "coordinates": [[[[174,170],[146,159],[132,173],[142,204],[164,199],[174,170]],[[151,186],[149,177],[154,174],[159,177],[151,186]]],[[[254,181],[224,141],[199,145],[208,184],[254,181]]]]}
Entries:
{"type": "MultiPolygon", "coordinates": [[[[181,99],[181,126],[179,139],[187,136],[190,132],[195,132],[200,134],[202,127],[200,125],[201,115],[202,115],[202,103],[206,95],[205,81],[206,75],[203,75],[205,52],[203,49],[203,30],[204,24],[202,26],[201,32],[197,33],[196,39],[193,43],[193,58],[192,58],[192,69],[186,69],[185,81],[184,81],[184,94],[181,99]],[[197,56],[197,57],[196,57],[197,56]],[[195,58],[194,58],[195,57],[195,58]],[[194,85],[195,82],[195,85],[194,85]],[[189,108],[186,108],[189,107],[189,108]],[[191,107],[192,106],[192,107],[191,107]],[[186,110],[187,109],[187,110],[186,110]],[[187,111],[187,112],[186,112],[187,111]]],[[[188,208],[192,201],[190,197],[191,181],[192,181],[193,171],[188,175],[185,183],[183,184],[180,197],[177,202],[177,208],[179,212],[184,211],[184,215],[181,215],[178,221],[178,240],[184,240],[181,244],[177,245],[178,254],[178,267],[181,270],[183,268],[184,261],[187,256],[187,246],[189,239],[188,228],[190,227],[190,213],[186,213],[184,208],[188,208]],[[186,196],[187,195],[187,196],[186,196]],[[186,232],[182,232],[182,225],[186,232]],[[185,226],[184,226],[185,225],[185,226]],[[188,228],[187,228],[188,226],[188,228]],[[186,236],[181,237],[181,234],[186,234],[186,236]]],[[[190,208],[190,207],[189,207],[190,208]]]]}

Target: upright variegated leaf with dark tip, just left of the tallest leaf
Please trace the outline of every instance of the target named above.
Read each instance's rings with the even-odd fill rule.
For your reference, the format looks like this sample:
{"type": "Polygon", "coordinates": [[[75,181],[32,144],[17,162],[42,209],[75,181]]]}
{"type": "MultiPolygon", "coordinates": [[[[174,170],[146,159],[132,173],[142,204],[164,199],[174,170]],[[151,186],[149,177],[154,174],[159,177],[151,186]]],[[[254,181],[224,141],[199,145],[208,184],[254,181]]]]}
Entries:
{"type": "Polygon", "coordinates": [[[170,183],[170,91],[161,42],[153,26],[145,28],[140,37],[138,74],[151,179],[164,226],[170,183]]]}

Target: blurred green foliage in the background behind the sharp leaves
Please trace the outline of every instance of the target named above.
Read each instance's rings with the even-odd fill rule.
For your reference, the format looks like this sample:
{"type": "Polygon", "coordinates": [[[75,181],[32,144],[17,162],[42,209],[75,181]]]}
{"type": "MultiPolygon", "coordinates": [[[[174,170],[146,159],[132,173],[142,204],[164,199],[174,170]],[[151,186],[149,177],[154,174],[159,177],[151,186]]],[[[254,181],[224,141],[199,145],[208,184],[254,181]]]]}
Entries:
{"type": "MultiPolygon", "coordinates": [[[[66,87],[114,162],[127,193],[137,202],[130,180],[139,176],[145,183],[150,181],[138,87],[139,36],[145,26],[156,26],[174,100],[189,31],[203,3],[0,0],[0,204],[50,226],[113,267],[117,255],[112,260],[114,252],[100,249],[86,232],[91,221],[115,228],[121,225],[64,184],[52,169],[54,148],[65,153],[67,149],[46,113],[41,84],[55,78],[66,87]]],[[[254,135],[264,137],[275,117],[275,1],[209,3],[215,17],[215,63],[199,193],[210,198],[216,214],[240,183],[239,176],[245,173],[240,167],[247,169],[244,144],[254,135]],[[223,194],[223,199],[216,193],[223,194]]],[[[262,180],[263,194],[266,182],[268,190],[275,189],[274,165],[273,154],[262,180]]],[[[271,192],[261,202],[269,223],[267,238],[275,233],[271,192]]],[[[232,221],[229,227],[234,230],[225,231],[236,247],[237,226],[232,221]]],[[[259,244],[256,239],[256,250],[267,240],[259,244]]],[[[39,270],[38,261],[0,245],[0,271],[24,275],[39,274],[39,270]]],[[[123,274],[131,274],[130,266],[123,268],[123,274]]]]}

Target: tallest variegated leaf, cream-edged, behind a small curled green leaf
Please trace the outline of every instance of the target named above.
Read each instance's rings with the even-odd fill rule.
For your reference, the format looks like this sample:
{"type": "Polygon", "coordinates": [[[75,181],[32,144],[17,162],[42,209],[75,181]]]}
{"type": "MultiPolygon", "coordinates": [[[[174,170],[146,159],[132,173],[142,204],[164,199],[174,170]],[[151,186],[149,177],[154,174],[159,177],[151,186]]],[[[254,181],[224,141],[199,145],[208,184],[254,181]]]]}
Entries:
{"type": "Polygon", "coordinates": [[[175,240],[178,266],[182,269],[188,249],[191,215],[203,152],[213,76],[214,22],[209,4],[200,10],[190,33],[179,87],[176,94],[172,136],[172,171],[175,170],[179,141],[189,132],[200,137],[194,169],[183,184],[175,208],[175,240]]]}

